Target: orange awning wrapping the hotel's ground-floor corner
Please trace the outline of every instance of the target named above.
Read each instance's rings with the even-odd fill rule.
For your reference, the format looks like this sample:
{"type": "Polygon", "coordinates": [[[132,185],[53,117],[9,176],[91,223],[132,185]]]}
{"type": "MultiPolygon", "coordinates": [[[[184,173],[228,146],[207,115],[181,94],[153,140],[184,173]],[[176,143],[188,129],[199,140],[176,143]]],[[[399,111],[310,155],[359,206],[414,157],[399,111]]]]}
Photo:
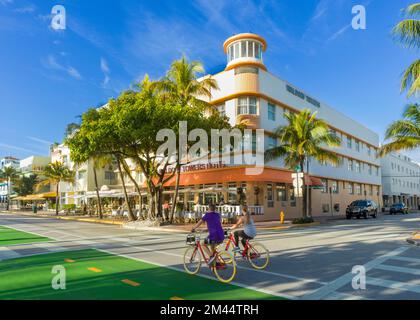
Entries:
{"type": "MultiPolygon", "coordinates": [[[[233,181],[249,181],[249,182],[278,182],[289,183],[293,182],[292,172],[277,170],[272,168],[264,168],[259,175],[247,175],[246,168],[223,168],[214,170],[203,170],[195,172],[183,172],[180,177],[180,185],[196,185],[196,184],[211,184],[233,181]]],[[[305,175],[305,182],[310,186],[322,186],[320,179],[316,177],[308,177],[305,175]]],[[[166,186],[175,185],[175,176],[172,177],[166,186]]]]}

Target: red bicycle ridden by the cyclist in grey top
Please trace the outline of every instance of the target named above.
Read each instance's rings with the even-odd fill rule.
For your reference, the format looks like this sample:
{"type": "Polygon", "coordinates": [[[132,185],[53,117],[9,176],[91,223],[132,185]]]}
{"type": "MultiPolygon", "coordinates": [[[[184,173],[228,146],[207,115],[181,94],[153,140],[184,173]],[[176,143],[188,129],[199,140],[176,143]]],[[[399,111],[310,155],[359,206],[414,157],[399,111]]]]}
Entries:
{"type": "MultiPolygon", "coordinates": [[[[226,252],[228,252],[230,248],[233,250],[233,248],[238,247],[235,237],[229,229],[225,229],[225,237],[227,239],[225,246],[226,252]]],[[[234,252],[234,259],[236,259],[236,253],[239,253],[242,258],[248,260],[253,268],[258,270],[265,269],[270,263],[270,252],[268,249],[259,242],[251,243],[249,239],[246,240],[243,250],[234,252]]]]}

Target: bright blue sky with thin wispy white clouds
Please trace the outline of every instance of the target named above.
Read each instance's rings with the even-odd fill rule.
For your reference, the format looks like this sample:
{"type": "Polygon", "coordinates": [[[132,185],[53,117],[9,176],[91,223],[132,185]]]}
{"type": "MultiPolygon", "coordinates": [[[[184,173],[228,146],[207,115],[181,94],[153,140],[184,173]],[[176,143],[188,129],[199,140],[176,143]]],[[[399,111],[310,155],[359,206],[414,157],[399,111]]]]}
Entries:
{"type": "MultiPolygon", "coordinates": [[[[377,132],[401,117],[404,69],[418,52],[391,30],[414,0],[0,0],[0,157],[48,155],[68,123],[183,54],[206,72],[226,65],[222,44],[253,32],[268,70],[377,132]],[[63,5],[66,29],[51,27],[63,5]],[[352,7],[364,5],[366,30],[352,7]]],[[[407,153],[420,162],[420,151],[407,153]]]]}

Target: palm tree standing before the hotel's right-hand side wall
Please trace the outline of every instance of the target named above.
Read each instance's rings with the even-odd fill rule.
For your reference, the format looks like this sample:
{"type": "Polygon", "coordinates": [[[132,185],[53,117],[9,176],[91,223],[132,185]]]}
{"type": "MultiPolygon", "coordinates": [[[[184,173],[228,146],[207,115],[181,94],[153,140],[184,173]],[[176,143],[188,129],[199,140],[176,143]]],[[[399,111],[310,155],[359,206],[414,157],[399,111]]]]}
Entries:
{"type": "MultiPolygon", "coordinates": [[[[284,114],[287,124],[279,126],[274,131],[274,137],[280,141],[280,145],[270,148],[265,152],[266,161],[283,158],[289,168],[300,167],[303,173],[309,169],[309,159],[322,163],[339,164],[340,157],[325,147],[338,147],[340,138],[328,127],[328,124],[316,118],[316,112],[304,109],[299,113],[286,112],[284,114]]],[[[305,188],[303,179],[303,216],[308,215],[307,204],[309,192],[305,188]]]]}

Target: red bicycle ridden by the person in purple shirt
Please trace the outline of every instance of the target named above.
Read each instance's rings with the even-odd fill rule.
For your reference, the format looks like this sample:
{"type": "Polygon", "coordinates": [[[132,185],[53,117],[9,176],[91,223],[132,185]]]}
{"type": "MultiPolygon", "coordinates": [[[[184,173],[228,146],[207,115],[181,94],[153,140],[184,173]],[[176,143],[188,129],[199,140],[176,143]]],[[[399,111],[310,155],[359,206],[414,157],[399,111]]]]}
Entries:
{"type": "Polygon", "coordinates": [[[189,245],[184,253],[184,269],[187,273],[197,274],[204,260],[220,282],[229,283],[235,278],[236,261],[230,252],[218,251],[216,247],[215,259],[210,264],[210,257],[205,255],[201,246],[200,236],[191,233],[186,243],[189,245]]]}

